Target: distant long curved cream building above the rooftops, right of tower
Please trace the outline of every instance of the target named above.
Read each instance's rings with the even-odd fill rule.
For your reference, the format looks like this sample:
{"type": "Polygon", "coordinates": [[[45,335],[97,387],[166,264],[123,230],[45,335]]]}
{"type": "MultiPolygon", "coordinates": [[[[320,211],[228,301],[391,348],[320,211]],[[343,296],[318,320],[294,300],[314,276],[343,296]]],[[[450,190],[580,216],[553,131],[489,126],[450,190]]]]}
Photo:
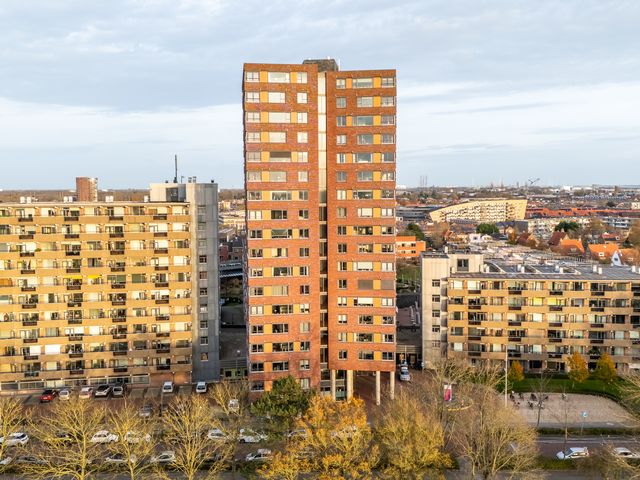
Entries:
{"type": "Polygon", "coordinates": [[[431,219],[434,222],[472,220],[477,223],[497,223],[522,220],[526,210],[527,200],[473,200],[434,210],[431,219]]]}

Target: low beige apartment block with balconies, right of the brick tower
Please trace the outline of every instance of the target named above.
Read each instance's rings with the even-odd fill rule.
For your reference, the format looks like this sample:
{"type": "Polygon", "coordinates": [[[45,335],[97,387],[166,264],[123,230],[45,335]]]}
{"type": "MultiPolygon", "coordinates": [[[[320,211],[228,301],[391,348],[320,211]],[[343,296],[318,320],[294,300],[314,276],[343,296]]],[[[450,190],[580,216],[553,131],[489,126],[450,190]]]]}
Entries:
{"type": "Polygon", "coordinates": [[[640,271],[560,261],[423,254],[423,355],[515,360],[525,372],[567,371],[603,354],[620,372],[640,368],[640,271]]]}

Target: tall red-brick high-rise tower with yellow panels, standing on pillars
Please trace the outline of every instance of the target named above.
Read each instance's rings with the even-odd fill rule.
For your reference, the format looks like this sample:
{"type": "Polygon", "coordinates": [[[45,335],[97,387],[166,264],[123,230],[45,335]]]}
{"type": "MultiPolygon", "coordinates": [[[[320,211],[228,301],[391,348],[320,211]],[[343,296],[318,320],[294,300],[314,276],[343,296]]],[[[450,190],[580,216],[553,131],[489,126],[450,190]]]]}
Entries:
{"type": "Polygon", "coordinates": [[[333,398],[395,371],[395,70],[244,65],[246,311],[254,392],[333,398]],[[369,376],[370,378],[370,376],[369,376]]]}

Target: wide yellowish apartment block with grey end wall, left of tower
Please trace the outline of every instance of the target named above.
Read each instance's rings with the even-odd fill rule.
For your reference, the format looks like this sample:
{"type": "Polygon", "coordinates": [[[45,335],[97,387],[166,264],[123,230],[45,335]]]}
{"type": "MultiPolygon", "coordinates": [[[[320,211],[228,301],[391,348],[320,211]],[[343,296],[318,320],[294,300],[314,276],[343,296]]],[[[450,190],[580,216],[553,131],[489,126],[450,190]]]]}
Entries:
{"type": "Polygon", "coordinates": [[[213,380],[217,185],[0,204],[0,390],[213,380]]]}

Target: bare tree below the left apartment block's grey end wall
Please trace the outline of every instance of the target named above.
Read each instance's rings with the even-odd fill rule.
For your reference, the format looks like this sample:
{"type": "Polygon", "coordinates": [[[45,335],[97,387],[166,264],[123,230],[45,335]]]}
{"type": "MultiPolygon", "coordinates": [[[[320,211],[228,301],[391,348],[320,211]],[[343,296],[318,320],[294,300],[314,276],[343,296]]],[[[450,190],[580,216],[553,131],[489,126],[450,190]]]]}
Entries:
{"type": "MultiPolygon", "coordinates": [[[[216,426],[209,400],[202,395],[178,397],[162,420],[165,440],[176,456],[173,468],[188,480],[215,478],[224,468],[228,450],[207,438],[209,429],[216,426]]],[[[169,478],[164,471],[158,474],[169,478]]]]}

